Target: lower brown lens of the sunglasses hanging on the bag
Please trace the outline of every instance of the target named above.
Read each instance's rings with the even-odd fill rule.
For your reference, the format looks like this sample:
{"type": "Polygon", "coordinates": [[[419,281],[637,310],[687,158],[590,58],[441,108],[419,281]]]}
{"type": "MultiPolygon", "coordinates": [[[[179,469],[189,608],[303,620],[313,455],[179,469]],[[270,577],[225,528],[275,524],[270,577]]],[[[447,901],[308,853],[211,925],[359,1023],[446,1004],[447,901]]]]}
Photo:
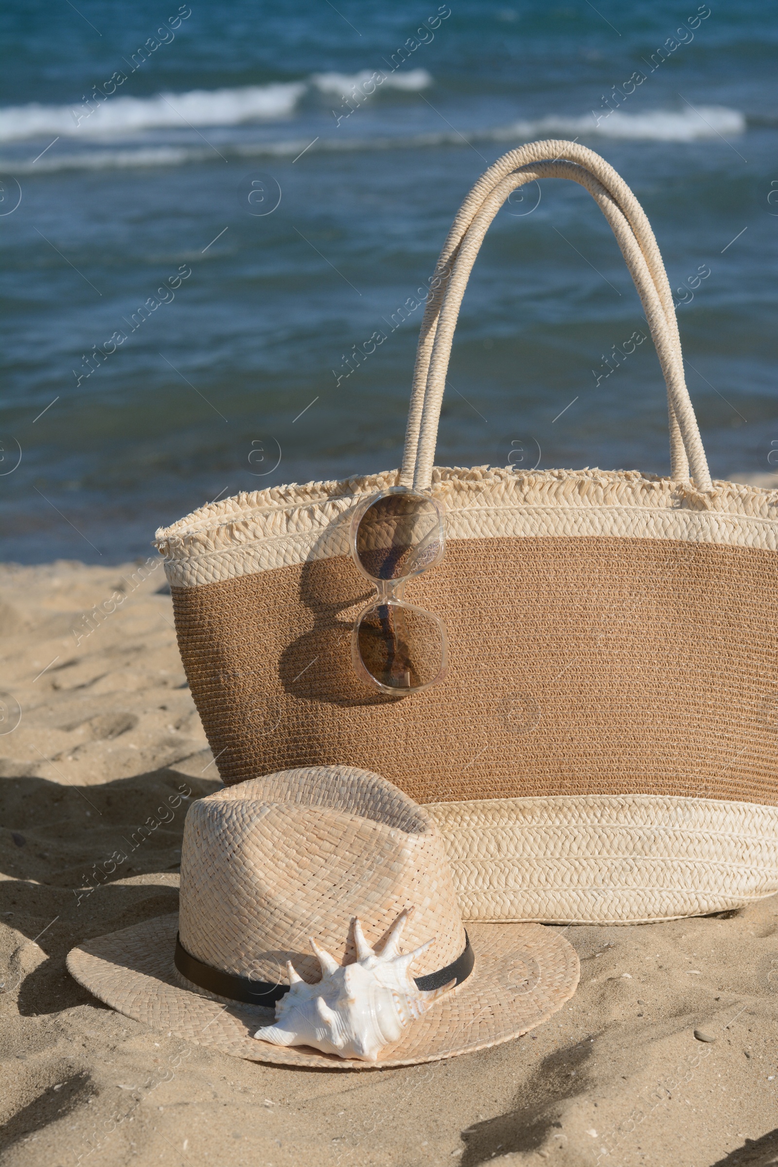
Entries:
{"type": "Polygon", "coordinates": [[[377,603],[359,617],[355,655],[385,689],[409,692],[442,680],[446,633],[440,620],[405,603],[377,603]]]}

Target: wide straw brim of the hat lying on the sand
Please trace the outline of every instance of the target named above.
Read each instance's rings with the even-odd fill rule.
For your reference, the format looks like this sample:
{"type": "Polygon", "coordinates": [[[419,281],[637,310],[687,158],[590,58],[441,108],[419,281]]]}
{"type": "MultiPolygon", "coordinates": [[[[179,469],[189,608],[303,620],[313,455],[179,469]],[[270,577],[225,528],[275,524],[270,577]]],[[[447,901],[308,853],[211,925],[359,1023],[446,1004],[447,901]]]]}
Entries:
{"type": "Polygon", "coordinates": [[[176,913],[99,936],[72,949],[68,970],[93,997],[135,1021],[234,1057],[281,1065],[384,1069],[498,1046],[561,1008],[580,973],[573,945],[542,924],[469,924],[476,964],[468,979],[412,1022],[377,1062],[363,1062],[259,1041],[253,1034],[273,1021],[272,1009],[225,1007],[195,986],[183,987],[173,963],[177,928],[176,913]]]}

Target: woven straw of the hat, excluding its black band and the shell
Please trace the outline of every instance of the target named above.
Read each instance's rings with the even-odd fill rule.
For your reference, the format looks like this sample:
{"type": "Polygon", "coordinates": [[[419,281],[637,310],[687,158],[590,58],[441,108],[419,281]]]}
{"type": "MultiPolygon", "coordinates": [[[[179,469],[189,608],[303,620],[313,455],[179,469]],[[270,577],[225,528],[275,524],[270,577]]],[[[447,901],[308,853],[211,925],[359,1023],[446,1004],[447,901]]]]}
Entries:
{"type": "MultiPolygon", "coordinates": [[[[377,774],[287,770],[195,802],[184,826],[180,914],[90,941],[70,952],[68,967],[113,1008],[184,1040],[254,1061],[364,1069],[362,1061],[257,1041],[253,1033],[273,1012],[187,980],[174,965],[176,931],[212,967],[288,984],[292,960],[315,984],[321,967],[308,937],[350,964],[355,916],[374,945],[411,907],[404,951],[433,941],[414,962],[419,977],[455,960],[467,939],[443,843],[427,813],[377,774]]],[[[575,950],[548,929],[476,925],[470,942],[474,971],[386,1047],[381,1065],[517,1037],[575,992],[575,950]]]]}

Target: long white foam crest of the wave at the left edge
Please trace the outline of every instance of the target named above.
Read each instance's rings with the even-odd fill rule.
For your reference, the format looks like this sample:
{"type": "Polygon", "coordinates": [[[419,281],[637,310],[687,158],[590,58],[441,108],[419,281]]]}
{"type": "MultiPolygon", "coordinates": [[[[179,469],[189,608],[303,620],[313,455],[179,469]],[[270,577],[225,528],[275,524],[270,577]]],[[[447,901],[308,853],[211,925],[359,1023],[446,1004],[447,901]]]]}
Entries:
{"type": "Polygon", "coordinates": [[[286,117],[308,86],[302,82],[247,85],[243,89],[192,90],[157,97],[108,97],[89,105],[16,105],[0,110],[0,141],[47,134],[82,137],[136,130],[234,126],[241,121],[286,117]],[[92,112],[90,113],[90,106],[92,112]]]}

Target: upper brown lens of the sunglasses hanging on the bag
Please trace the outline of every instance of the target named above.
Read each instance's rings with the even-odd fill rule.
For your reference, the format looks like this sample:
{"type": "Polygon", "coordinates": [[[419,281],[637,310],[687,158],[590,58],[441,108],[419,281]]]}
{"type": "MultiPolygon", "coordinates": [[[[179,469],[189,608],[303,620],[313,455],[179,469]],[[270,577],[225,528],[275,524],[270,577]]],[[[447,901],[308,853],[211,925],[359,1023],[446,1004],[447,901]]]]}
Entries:
{"type": "Polygon", "coordinates": [[[416,575],[437,562],[443,552],[442,510],[425,495],[384,495],[359,519],[355,545],[371,579],[416,575]]]}

